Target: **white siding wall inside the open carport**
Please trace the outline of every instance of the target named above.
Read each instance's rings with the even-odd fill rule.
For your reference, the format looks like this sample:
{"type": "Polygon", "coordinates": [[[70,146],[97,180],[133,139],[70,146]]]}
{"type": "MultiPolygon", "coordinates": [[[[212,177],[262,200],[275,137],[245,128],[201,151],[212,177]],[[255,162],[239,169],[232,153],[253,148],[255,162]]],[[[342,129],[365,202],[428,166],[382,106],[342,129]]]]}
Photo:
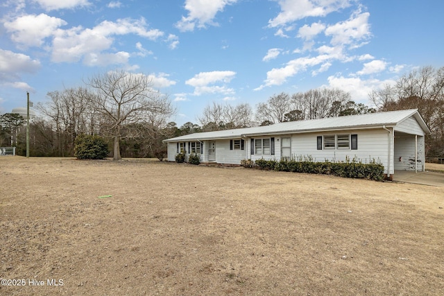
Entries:
{"type": "MultiPolygon", "coordinates": [[[[424,159],[424,137],[418,137],[418,171],[422,171],[424,159]]],[[[395,170],[415,171],[415,136],[395,134],[395,170]]]]}

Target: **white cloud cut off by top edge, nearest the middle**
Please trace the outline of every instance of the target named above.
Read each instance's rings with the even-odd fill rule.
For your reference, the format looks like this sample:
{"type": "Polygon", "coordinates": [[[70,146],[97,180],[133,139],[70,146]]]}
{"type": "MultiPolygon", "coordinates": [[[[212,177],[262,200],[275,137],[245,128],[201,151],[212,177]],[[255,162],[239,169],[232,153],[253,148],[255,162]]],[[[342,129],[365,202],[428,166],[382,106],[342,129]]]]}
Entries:
{"type": "Polygon", "coordinates": [[[227,5],[236,3],[237,0],[186,0],[185,9],[188,10],[187,17],[183,17],[176,23],[176,28],[180,31],[193,31],[198,28],[205,28],[206,25],[217,25],[213,19],[217,12],[223,11],[227,5]]]}

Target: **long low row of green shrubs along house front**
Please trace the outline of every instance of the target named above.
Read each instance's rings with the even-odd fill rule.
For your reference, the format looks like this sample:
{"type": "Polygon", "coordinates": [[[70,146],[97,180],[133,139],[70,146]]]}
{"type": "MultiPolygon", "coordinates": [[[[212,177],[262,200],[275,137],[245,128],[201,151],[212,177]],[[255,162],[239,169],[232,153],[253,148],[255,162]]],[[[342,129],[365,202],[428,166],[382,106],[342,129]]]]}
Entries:
{"type": "Polygon", "coordinates": [[[383,180],[384,166],[372,162],[362,164],[361,162],[312,162],[296,160],[266,160],[257,159],[255,162],[244,159],[241,162],[246,168],[259,168],[262,170],[285,171],[293,173],[314,173],[335,175],[339,177],[361,178],[368,180],[383,180]]]}

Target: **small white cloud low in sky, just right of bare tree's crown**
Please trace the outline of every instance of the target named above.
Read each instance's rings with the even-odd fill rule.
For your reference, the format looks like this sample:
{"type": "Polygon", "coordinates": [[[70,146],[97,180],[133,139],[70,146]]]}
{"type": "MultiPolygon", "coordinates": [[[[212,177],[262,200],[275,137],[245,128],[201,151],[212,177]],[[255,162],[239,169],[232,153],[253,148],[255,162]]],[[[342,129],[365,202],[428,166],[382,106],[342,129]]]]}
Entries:
{"type": "Polygon", "coordinates": [[[194,87],[194,95],[201,94],[234,94],[234,89],[225,86],[236,75],[234,71],[200,72],[193,78],[185,81],[186,85],[194,87]],[[214,85],[214,84],[223,85],[214,85]]]}

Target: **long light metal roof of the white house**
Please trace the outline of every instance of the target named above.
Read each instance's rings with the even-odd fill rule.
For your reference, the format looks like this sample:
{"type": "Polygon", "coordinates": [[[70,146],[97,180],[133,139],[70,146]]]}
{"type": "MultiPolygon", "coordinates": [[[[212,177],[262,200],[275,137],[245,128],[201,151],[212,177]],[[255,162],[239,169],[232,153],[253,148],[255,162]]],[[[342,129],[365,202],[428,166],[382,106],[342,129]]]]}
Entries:
{"type": "Polygon", "coordinates": [[[318,132],[328,130],[350,130],[354,128],[393,127],[405,119],[413,116],[426,134],[429,128],[420,116],[417,109],[378,112],[350,116],[331,117],[325,119],[311,119],[305,121],[290,121],[273,125],[257,126],[253,128],[237,128],[234,130],[218,130],[214,132],[196,132],[185,136],[166,139],[164,142],[203,141],[215,139],[234,139],[241,137],[255,137],[273,134],[297,134],[302,132],[318,132]]]}

